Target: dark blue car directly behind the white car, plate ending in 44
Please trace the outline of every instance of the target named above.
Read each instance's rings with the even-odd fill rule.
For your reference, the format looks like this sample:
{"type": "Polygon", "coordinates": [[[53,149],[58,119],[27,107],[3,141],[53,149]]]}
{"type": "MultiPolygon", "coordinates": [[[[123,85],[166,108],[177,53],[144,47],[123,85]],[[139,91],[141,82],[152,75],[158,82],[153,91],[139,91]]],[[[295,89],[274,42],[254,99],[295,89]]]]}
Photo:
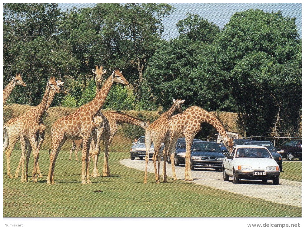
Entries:
{"type": "Polygon", "coordinates": [[[221,170],[225,156],[216,142],[193,142],[191,147],[191,170],[195,168],[213,168],[221,170]]]}

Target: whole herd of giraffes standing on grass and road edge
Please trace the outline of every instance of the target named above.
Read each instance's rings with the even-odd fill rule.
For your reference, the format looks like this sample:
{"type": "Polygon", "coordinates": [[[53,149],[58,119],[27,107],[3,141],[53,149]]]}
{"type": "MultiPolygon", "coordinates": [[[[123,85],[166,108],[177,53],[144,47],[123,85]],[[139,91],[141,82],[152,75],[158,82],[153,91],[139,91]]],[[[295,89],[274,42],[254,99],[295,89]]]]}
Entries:
{"type": "MultiPolygon", "coordinates": [[[[101,109],[105,103],[108,93],[114,83],[128,85],[129,82],[122,75],[122,71],[115,69],[111,75],[103,83],[106,74],[106,69],[102,66],[96,66],[92,70],[95,74],[96,96],[91,102],[79,107],[74,113],[59,118],[51,127],[51,145],[49,150],[50,166],[48,176],[46,178],[47,185],[55,184],[54,171],[55,162],[60,152],[61,147],[66,140],[72,140],[73,146],[70,150],[69,160],[76,147],[76,160],[78,161],[77,152],[82,147],[82,169],[81,179],[82,184],[91,183],[90,176],[100,176],[98,171],[98,156],[100,153],[100,141],[104,143],[104,164],[102,176],[110,176],[110,169],[108,164],[109,146],[117,132],[118,125],[128,123],[140,126],[145,130],[145,176],[144,183],[147,183],[147,165],[149,161],[150,146],[153,143],[155,152],[152,161],[155,168],[155,181],[160,183],[160,147],[164,143],[164,168],[163,168],[163,182],[167,182],[166,175],[166,161],[167,156],[170,156],[174,180],[177,180],[174,167],[174,146],[178,137],[185,137],[186,141],[186,157],[185,157],[185,180],[193,181],[190,169],[190,148],[195,135],[201,130],[203,122],[211,124],[224,139],[225,146],[229,151],[233,147],[233,140],[226,135],[226,131],[222,123],[211,113],[206,110],[192,106],[182,111],[181,105],[184,100],[173,100],[173,105],[170,109],[150,124],[149,121],[143,121],[133,116],[125,115],[117,112],[102,112],[101,109]],[[173,115],[175,111],[179,113],[173,115]],[[90,156],[93,158],[94,168],[93,172],[89,174],[90,156]],[[158,161],[158,168],[157,168],[158,161]]],[[[28,163],[31,151],[33,151],[34,165],[32,172],[33,182],[37,182],[37,176],[42,177],[39,168],[39,151],[41,144],[44,141],[45,125],[42,117],[50,107],[56,93],[67,92],[63,86],[64,82],[55,80],[50,77],[47,80],[45,93],[42,101],[36,107],[31,108],[21,116],[12,118],[3,126],[3,152],[5,151],[7,157],[7,175],[12,178],[10,170],[10,157],[13,148],[18,140],[21,144],[21,157],[18,167],[15,172],[15,178],[18,177],[21,168],[21,182],[28,181],[28,163]],[[25,162],[26,161],[26,162],[25,162]],[[24,170],[24,163],[26,169],[24,170]]],[[[26,86],[23,82],[20,73],[16,77],[12,77],[7,87],[3,90],[3,105],[8,96],[16,85],[26,86]]]]}

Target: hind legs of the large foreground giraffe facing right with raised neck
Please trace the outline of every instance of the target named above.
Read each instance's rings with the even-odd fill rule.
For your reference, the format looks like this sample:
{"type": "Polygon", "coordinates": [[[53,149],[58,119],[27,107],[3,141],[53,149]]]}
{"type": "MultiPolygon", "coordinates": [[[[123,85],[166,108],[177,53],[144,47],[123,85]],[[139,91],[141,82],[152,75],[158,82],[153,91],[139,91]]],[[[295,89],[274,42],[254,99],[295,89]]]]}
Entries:
{"type": "Polygon", "coordinates": [[[54,136],[54,134],[52,135],[52,142],[51,142],[52,151],[50,153],[50,166],[47,176],[47,185],[55,184],[54,182],[55,161],[65,141],[66,138],[64,137],[64,134],[61,134],[59,136],[54,136]]]}

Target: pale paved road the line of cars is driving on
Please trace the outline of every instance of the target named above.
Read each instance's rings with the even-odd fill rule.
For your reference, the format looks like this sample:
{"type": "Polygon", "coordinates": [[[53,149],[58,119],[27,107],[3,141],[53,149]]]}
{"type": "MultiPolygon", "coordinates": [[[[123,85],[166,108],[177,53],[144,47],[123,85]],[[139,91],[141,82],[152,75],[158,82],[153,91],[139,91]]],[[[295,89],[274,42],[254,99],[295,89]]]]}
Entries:
{"type": "MultiPolygon", "coordinates": [[[[130,159],[124,159],[120,161],[120,164],[133,169],[145,171],[145,160],[136,159],[132,161],[130,159]]],[[[162,174],[163,171],[163,164],[163,161],[161,161],[160,174],[162,174]]],[[[155,173],[152,161],[149,161],[147,171],[155,173]]],[[[175,171],[177,178],[184,180],[184,166],[175,167],[175,171]]],[[[170,164],[167,164],[166,166],[166,173],[168,177],[173,177],[170,164]]],[[[267,184],[263,184],[261,181],[241,181],[240,184],[233,184],[232,178],[230,178],[230,181],[223,181],[222,172],[217,172],[212,169],[198,169],[198,171],[192,171],[192,177],[194,183],[198,185],[234,192],[244,196],[260,198],[266,201],[302,207],[301,182],[280,179],[279,185],[273,185],[272,181],[268,181],[267,184]]],[[[148,181],[154,180],[155,179],[148,181]]]]}

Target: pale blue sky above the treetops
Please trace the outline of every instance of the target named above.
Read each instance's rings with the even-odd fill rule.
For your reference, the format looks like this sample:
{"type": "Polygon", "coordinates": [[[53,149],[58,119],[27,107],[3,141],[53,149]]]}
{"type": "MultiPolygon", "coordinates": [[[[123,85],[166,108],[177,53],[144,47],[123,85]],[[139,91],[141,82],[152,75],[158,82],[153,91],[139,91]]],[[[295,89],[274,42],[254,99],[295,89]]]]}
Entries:
{"type": "MultiPolygon", "coordinates": [[[[296,17],[298,33],[302,37],[302,3],[169,3],[176,10],[168,18],[163,19],[164,38],[176,38],[179,36],[176,24],[185,18],[186,13],[198,14],[200,17],[213,22],[220,29],[230,21],[235,12],[249,9],[261,9],[264,12],[281,11],[283,17],[296,17]]],[[[58,3],[62,11],[72,7],[94,7],[95,3],[58,3]]]]}

